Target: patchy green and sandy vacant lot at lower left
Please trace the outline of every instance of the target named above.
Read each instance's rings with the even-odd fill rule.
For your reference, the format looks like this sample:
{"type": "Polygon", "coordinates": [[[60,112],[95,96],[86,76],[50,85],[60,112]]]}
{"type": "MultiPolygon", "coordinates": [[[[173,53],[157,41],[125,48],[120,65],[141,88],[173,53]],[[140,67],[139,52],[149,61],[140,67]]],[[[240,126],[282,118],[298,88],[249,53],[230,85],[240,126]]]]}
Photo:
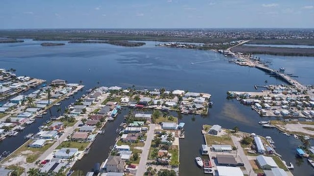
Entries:
{"type": "Polygon", "coordinates": [[[26,156],[26,162],[32,163],[37,160],[37,158],[43,154],[47,149],[49,149],[55,141],[48,141],[47,144],[42,148],[30,148],[28,147],[29,144],[31,144],[33,140],[28,140],[26,143],[24,143],[19,149],[14,151],[10,156],[6,157],[2,162],[6,162],[11,158],[25,155],[26,156]],[[25,153],[25,151],[29,151],[28,153],[25,153]],[[30,152],[31,151],[31,152],[30,152]]]}

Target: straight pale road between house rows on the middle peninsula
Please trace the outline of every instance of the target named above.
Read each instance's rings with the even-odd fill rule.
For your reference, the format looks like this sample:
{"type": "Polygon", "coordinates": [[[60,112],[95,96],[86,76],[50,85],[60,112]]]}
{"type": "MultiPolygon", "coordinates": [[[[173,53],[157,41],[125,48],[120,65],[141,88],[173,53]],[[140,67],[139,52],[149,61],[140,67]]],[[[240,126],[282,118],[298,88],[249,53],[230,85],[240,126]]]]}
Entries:
{"type": "Polygon", "coordinates": [[[141,160],[139,161],[136,176],[144,176],[144,173],[146,172],[147,157],[149,154],[149,149],[151,148],[151,145],[152,145],[155,127],[156,127],[156,124],[151,124],[149,127],[149,130],[147,132],[147,139],[146,139],[145,145],[143,147],[143,151],[141,154],[141,160]]]}

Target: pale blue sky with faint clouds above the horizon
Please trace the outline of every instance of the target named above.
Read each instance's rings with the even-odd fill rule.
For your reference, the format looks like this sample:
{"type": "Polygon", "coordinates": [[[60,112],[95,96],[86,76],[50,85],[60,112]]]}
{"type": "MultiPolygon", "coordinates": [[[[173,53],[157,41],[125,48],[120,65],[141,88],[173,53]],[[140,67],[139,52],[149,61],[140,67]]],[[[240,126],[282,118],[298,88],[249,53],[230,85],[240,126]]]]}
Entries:
{"type": "Polygon", "coordinates": [[[314,28],[314,0],[1,0],[0,28],[314,28]]]}

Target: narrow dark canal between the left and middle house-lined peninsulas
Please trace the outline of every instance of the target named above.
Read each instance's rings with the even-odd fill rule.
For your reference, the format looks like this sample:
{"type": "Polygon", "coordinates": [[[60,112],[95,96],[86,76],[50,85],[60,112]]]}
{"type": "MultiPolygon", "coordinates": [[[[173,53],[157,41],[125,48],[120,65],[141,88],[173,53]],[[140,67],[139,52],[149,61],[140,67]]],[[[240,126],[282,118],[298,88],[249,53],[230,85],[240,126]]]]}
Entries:
{"type": "Polygon", "coordinates": [[[94,169],[96,163],[102,164],[110,153],[110,146],[115,144],[115,139],[118,134],[116,129],[124,121],[124,116],[129,112],[129,108],[123,108],[121,114],[115,118],[113,122],[108,121],[103,127],[105,129],[104,134],[98,134],[93,144],[90,146],[90,150],[83,158],[77,161],[72,170],[83,171],[84,174],[94,169]]]}

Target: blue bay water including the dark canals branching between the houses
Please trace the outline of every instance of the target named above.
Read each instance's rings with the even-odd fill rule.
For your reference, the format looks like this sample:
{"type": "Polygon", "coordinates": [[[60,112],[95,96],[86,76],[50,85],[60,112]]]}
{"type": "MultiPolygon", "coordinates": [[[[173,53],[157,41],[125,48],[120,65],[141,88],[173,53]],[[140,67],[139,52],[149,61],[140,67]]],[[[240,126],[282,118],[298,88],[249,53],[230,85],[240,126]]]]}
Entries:
{"type": "MultiPolygon", "coordinates": [[[[261,118],[251,107],[226,98],[227,91],[257,91],[254,85],[263,85],[265,80],[267,84],[285,84],[276,77],[270,77],[255,68],[229,63],[228,60],[233,59],[232,57],[224,57],[213,51],[155,47],[155,42],[146,42],[147,45],[134,48],[108,44],[42,47],[42,42],[45,41],[26,40],[24,43],[1,44],[0,67],[14,68],[17,75],[29,75],[48,81],[61,78],[69,83],[78,83],[81,80],[86,86],[85,90],[100,85],[117,85],[124,88],[134,85],[136,88],[164,87],[169,90],[182,89],[211,94],[214,105],[209,109],[207,116],[183,115],[180,119],[185,122],[185,139],[180,140],[180,176],[203,173],[196,166],[194,158],[200,155],[201,144],[204,144],[201,135],[201,126],[204,124],[219,124],[224,128],[238,126],[244,132],[271,136],[275,141],[276,151],[283,155],[285,161],[294,164],[294,174],[310,176],[313,173],[313,168],[305,159],[295,158],[295,149],[299,145],[297,140],[275,129],[264,129],[258,125],[261,120],[274,118],[261,118]]],[[[296,79],[300,79],[304,84],[314,84],[314,69],[309,69],[314,65],[314,57],[259,56],[261,59],[272,61],[272,68],[285,67],[286,72],[299,75],[296,79]]],[[[66,101],[73,102],[75,99],[66,101]]],[[[56,107],[52,107],[52,112],[54,111],[56,107]]],[[[120,124],[120,120],[122,121],[122,117],[122,114],[118,115],[116,121],[106,125],[105,134],[96,138],[90,153],[85,155],[75,168],[87,172],[95,163],[101,163],[105,159],[108,147],[116,137],[115,128],[120,124]]],[[[34,127],[29,128],[38,130],[38,126],[34,124],[34,127]]],[[[22,139],[13,138],[12,141],[2,142],[0,151],[7,150],[8,145],[14,149],[23,143],[14,143],[15,139],[22,139]]]]}

